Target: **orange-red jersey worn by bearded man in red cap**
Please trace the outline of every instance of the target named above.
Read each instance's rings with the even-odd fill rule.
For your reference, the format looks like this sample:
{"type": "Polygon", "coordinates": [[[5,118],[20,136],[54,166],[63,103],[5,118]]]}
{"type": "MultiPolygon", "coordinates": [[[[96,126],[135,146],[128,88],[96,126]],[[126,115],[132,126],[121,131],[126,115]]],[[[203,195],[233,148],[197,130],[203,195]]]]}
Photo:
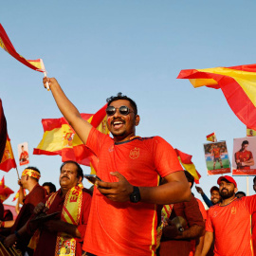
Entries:
{"type": "Polygon", "coordinates": [[[253,255],[250,219],[255,211],[256,195],[210,207],[206,230],[214,232],[214,255],[253,255]]]}

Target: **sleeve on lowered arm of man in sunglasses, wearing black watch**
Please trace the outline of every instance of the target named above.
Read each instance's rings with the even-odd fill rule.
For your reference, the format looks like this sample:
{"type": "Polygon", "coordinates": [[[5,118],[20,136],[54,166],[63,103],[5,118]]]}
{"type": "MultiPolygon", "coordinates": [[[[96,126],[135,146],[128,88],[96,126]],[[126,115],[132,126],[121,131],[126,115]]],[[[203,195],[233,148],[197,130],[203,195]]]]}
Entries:
{"type": "Polygon", "coordinates": [[[160,176],[165,177],[177,171],[182,171],[174,148],[162,137],[154,137],[155,167],[160,176]]]}

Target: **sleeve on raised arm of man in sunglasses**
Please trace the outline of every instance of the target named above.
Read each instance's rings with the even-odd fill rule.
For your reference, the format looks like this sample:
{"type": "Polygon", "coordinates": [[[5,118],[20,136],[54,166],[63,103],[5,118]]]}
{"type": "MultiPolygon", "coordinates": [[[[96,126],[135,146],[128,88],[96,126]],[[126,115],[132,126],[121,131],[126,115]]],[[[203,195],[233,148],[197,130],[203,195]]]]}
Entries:
{"type": "Polygon", "coordinates": [[[99,155],[101,145],[107,137],[109,136],[102,134],[100,131],[92,127],[86,141],[86,147],[88,147],[95,155],[99,155]]]}

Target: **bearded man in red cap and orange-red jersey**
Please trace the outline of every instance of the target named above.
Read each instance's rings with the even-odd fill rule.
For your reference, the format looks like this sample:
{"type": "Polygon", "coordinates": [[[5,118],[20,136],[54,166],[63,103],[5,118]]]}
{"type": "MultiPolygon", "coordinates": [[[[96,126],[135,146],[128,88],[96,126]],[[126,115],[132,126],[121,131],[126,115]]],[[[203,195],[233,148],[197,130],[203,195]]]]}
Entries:
{"type": "Polygon", "coordinates": [[[256,211],[256,195],[237,198],[235,180],[224,175],[218,178],[222,202],[210,207],[202,255],[207,255],[214,241],[214,255],[252,256],[251,215],[256,211]]]}

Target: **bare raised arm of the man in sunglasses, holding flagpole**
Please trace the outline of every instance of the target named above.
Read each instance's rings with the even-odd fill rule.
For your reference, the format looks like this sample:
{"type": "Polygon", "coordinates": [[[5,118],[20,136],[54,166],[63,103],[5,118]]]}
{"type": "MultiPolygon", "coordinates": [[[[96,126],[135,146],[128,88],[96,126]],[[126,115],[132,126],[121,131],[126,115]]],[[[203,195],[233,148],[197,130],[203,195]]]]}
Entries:
{"type": "Polygon", "coordinates": [[[43,82],[46,87],[46,82],[49,83],[53,98],[56,101],[64,118],[69,122],[70,126],[75,130],[76,134],[81,138],[82,142],[86,144],[87,137],[91,131],[91,124],[82,119],[78,109],[74,104],[67,99],[60,84],[55,78],[44,78],[43,82]]]}

